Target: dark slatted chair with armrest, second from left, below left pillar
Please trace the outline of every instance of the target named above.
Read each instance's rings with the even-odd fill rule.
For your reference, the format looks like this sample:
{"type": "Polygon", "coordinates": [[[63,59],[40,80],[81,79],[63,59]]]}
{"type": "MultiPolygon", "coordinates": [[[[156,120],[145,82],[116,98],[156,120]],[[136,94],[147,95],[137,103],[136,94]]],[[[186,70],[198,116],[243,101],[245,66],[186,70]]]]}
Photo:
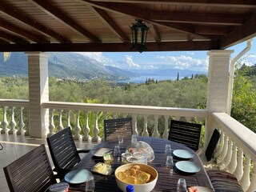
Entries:
{"type": "Polygon", "coordinates": [[[79,153],[90,152],[90,150],[77,150],[70,127],[46,140],[54,162],[54,171],[57,172],[59,178],[64,178],[65,174],[81,161],[79,153]]]}

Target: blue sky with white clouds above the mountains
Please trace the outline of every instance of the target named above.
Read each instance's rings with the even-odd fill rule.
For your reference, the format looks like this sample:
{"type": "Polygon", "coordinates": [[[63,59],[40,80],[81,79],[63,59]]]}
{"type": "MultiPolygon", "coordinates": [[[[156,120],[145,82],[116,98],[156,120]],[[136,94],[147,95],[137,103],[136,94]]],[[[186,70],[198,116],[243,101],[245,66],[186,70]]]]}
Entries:
{"type": "MultiPolygon", "coordinates": [[[[256,63],[256,38],[252,42],[251,49],[245,54],[247,66],[256,63]]],[[[239,43],[227,50],[234,50],[231,59],[246,48],[246,42],[239,43]]],[[[87,57],[94,58],[106,66],[116,66],[121,69],[155,70],[155,69],[179,69],[179,70],[208,70],[207,51],[166,51],[166,52],[86,52],[87,57]]]]}

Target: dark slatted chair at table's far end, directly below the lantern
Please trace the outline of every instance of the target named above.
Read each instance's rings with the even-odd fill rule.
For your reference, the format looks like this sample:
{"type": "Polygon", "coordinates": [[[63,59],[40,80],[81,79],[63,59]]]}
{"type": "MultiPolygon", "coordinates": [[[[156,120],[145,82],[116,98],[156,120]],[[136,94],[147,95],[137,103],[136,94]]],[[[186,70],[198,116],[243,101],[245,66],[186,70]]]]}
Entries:
{"type": "Polygon", "coordinates": [[[132,118],[113,118],[104,120],[105,141],[118,141],[118,134],[124,136],[124,140],[130,140],[133,134],[132,118]]]}

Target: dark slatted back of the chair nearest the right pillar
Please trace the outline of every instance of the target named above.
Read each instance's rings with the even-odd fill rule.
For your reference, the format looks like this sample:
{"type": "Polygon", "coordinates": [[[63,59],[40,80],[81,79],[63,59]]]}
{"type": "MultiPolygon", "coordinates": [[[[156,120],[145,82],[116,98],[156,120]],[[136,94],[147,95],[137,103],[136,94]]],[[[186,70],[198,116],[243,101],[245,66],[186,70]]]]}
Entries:
{"type": "Polygon", "coordinates": [[[199,148],[202,125],[171,120],[168,140],[182,143],[196,151],[199,148]]]}

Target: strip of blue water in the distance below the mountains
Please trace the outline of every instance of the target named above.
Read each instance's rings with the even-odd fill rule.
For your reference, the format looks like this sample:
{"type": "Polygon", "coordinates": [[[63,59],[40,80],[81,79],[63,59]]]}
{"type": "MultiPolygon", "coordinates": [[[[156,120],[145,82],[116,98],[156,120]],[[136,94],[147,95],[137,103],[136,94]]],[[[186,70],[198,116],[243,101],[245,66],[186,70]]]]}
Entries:
{"type": "MultiPolygon", "coordinates": [[[[146,79],[149,78],[154,78],[154,81],[158,80],[158,81],[162,81],[162,80],[176,80],[177,79],[177,75],[176,76],[150,76],[150,75],[146,75],[146,76],[138,76],[138,77],[134,77],[134,78],[130,78],[129,80],[121,80],[118,82],[135,82],[135,83],[145,83],[146,79]]],[[[179,79],[182,79],[184,77],[179,76],[179,79]]]]}

